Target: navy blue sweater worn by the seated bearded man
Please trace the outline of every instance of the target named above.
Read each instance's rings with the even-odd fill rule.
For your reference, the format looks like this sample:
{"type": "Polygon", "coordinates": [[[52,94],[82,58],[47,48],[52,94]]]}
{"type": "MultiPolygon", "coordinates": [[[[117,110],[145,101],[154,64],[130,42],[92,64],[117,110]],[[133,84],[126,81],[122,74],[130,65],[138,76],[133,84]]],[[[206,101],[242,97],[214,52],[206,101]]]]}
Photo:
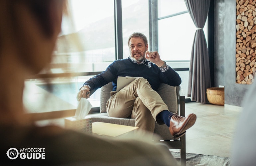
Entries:
{"type": "MultiPolygon", "coordinates": [[[[146,62],[146,64],[148,64],[148,62],[146,62]]],[[[155,91],[158,89],[160,83],[171,86],[181,84],[181,77],[170,66],[167,71],[162,72],[154,63],[152,63],[149,68],[144,64],[134,63],[130,58],[127,58],[115,60],[105,71],[90,78],[83,85],[89,85],[91,87],[90,90],[95,90],[112,81],[113,91],[116,91],[117,77],[119,76],[146,78],[155,91]]]]}

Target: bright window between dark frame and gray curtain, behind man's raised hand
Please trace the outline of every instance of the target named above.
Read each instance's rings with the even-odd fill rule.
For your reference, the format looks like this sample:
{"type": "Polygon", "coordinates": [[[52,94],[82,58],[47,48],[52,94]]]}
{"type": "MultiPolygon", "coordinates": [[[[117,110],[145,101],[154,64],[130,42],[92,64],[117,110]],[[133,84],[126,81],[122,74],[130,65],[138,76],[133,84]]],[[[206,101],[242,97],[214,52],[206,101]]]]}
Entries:
{"type": "MultiPolygon", "coordinates": [[[[156,3],[157,48],[163,60],[176,69],[182,78],[187,96],[192,43],[196,27],[183,0],[152,0],[156,3]]],[[[154,29],[153,28],[153,29],[154,29]]],[[[204,26],[204,33],[207,27],[204,26]]],[[[153,41],[154,42],[154,41],[153,41]]]]}

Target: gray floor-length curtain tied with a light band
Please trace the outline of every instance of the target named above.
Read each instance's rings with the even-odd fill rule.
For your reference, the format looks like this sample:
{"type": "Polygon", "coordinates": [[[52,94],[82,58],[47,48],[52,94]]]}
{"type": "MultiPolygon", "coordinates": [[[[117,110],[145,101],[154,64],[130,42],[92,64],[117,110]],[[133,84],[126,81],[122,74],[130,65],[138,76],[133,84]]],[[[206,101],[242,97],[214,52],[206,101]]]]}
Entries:
{"type": "Polygon", "coordinates": [[[192,101],[207,103],[206,89],[210,85],[208,48],[202,28],[205,25],[210,0],[185,0],[197,28],[191,52],[188,96],[192,101]]]}

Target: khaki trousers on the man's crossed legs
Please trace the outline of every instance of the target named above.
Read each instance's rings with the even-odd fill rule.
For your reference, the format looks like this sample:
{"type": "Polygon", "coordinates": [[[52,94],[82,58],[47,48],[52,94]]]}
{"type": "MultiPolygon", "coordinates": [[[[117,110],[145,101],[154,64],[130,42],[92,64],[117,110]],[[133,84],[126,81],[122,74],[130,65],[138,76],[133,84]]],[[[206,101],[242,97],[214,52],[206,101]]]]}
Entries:
{"type": "Polygon", "coordinates": [[[147,79],[138,77],[110,97],[106,110],[110,117],[133,118],[135,127],[153,133],[156,116],[168,107],[147,79]]]}

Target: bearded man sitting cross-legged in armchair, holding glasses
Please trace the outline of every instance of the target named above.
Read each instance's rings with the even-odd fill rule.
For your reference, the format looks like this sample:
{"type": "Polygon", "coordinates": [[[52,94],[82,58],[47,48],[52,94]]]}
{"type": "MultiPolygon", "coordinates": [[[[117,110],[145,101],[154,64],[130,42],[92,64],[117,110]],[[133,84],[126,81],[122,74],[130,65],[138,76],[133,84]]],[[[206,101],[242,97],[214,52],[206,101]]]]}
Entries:
{"type": "Polygon", "coordinates": [[[166,124],[174,139],[179,139],[195,123],[196,115],[182,117],[170,112],[156,91],[161,83],[180,85],[181,77],[160,58],[157,51],[148,51],[148,40],[142,33],[133,33],[128,38],[128,47],[129,57],[115,60],[101,74],[85,81],[77,99],[89,98],[87,92],[112,82],[113,90],[106,104],[110,117],[135,119],[135,127],[139,127],[140,133],[153,134],[155,122],[166,124]],[[119,76],[137,78],[117,92],[119,76]]]}

